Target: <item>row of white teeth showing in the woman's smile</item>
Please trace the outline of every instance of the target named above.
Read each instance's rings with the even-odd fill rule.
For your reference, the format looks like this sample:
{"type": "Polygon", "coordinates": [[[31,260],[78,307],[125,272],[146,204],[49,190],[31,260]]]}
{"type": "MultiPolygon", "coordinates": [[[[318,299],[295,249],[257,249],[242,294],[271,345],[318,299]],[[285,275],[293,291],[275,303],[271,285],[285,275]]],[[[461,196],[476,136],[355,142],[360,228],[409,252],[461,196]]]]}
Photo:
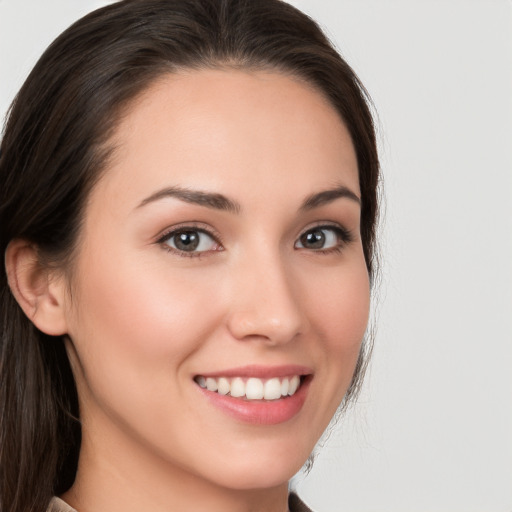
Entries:
{"type": "Polygon", "coordinates": [[[196,382],[203,389],[216,391],[220,395],[231,395],[234,398],[246,398],[247,400],[278,400],[282,397],[292,396],[300,387],[300,377],[278,378],[268,380],[251,377],[244,380],[242,377],[196,377],[196,382]]]}

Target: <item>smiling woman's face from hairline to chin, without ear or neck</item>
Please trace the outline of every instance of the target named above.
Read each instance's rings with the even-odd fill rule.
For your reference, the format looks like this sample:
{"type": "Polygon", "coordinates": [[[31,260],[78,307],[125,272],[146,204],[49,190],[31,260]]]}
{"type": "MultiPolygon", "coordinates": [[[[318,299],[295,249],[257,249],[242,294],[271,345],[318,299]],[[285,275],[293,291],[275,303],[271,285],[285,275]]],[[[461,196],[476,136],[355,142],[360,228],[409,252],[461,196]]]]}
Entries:
{"type": "Polygon", "coordinates": [[[113,143],[68,283],[83,453],[280,485],[342,400],[367,323],[347,129],[290,77],[191,71],[139,97],[113,143]]]}

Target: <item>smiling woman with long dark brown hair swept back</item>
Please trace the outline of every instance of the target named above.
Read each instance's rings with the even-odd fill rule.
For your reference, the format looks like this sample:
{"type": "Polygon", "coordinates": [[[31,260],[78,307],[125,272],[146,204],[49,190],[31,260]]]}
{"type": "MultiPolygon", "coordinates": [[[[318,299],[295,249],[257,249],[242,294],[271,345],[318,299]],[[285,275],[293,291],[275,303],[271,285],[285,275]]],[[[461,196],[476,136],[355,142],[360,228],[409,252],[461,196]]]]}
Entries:
{"type": "Polygon", "coordinates": [[[314,22],[95,11],[1,148],[1,509],[307,510],[288,480],[365,365],[378,180],[314,22]]]}

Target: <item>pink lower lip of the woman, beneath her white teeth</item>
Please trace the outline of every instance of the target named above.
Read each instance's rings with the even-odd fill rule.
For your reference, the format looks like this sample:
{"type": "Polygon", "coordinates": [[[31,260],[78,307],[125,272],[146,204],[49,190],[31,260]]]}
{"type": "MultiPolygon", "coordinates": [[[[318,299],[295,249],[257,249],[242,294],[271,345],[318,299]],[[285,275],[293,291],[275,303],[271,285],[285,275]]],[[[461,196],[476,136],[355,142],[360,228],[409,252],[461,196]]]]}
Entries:
{"type": "Polygon", "coordinates": [[[306,401],[310,381],[311,377],[306,377],[294,395],[278,400],[244,400],[197,388],[213,405],[243,423],[277,425],[299,413],[306,401]]]}

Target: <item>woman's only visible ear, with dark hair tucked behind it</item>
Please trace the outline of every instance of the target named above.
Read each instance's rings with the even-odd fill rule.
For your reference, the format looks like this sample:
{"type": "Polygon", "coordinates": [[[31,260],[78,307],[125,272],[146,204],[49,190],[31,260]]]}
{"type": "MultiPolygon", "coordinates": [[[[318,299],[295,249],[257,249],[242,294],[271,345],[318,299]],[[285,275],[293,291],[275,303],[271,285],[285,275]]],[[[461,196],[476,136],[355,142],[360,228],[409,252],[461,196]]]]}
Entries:
{"type": "Polygon", "coordinates": [[[26,240],[12,240],[5,252],[9,287],[27,317],[42,332],[67,332],[66,284],[63,276],[43,266],[37,248],[26,240]]]}

